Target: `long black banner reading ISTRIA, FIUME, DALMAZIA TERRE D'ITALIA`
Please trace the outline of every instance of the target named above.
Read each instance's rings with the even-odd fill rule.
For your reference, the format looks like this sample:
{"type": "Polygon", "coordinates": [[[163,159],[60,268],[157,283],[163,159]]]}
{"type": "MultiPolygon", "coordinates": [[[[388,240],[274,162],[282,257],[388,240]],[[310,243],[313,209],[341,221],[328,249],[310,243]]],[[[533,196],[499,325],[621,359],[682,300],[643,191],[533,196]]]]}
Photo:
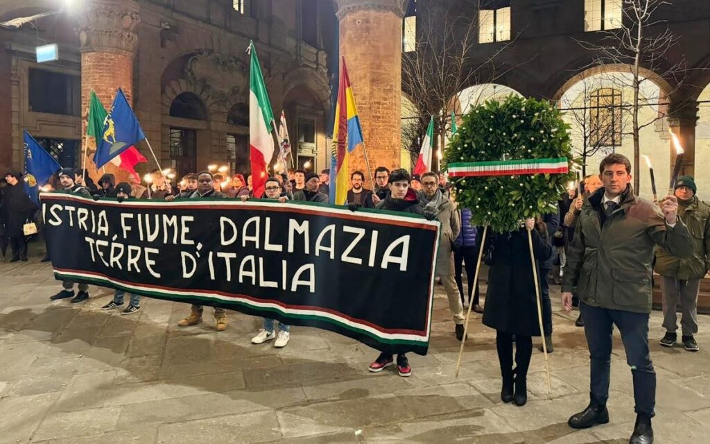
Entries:
{"type": "Polygon", "coordinates": [[[439,222],[307,202],[41,197],[60,280],[427,353],[439,222]]]}

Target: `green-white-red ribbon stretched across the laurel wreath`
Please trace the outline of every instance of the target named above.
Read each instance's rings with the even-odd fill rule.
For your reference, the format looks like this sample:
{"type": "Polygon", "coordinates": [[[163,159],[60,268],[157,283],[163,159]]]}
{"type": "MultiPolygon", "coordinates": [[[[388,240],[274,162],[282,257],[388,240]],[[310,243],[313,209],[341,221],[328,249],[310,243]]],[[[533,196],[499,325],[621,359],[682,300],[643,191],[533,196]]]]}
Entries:
{"type": "Polygon", "coordinates": [[[449,163],[449,177],[463,178],[486,175],[561,174],[569,171],[566,157],[521,159],[519,161],[449,163]]]}

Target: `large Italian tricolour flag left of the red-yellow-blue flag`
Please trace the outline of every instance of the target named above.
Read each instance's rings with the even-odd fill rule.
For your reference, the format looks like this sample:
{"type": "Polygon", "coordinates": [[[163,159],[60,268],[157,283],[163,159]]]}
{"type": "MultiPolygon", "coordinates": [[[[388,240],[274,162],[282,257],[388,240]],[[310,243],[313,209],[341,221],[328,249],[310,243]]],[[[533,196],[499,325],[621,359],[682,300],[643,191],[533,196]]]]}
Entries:
{"type": "Polygon", "coordinates": [[[254,43],[249,42],[251,70],[249,73],[249,158],[254,197],[261,197],[268,179],[266,166],[273,158],[273,111],[268,99],[261,66],[254,43]]]}

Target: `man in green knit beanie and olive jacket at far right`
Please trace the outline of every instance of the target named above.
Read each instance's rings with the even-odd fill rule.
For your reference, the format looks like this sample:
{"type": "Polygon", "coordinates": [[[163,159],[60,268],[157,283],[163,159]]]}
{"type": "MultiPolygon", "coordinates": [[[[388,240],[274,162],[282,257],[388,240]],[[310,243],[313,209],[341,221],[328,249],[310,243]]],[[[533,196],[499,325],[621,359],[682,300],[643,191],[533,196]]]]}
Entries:
{"type": "Polygon", "coordinates": [[[695,254],[687,258],[672,256],[656,247],[655,271],[661,275],[663,327],[661,345],[673,347],[677,340],[676,308],[680,305],[682,343],[685,350],[697,352],[693,335],[698,332],[698,292],[700,280],[710,268],[710,206],[698,199],[697,185],[690,175],[678,178],[675,196],[678,198],[678,217],[687,225],[695,244],[695,254]]]}

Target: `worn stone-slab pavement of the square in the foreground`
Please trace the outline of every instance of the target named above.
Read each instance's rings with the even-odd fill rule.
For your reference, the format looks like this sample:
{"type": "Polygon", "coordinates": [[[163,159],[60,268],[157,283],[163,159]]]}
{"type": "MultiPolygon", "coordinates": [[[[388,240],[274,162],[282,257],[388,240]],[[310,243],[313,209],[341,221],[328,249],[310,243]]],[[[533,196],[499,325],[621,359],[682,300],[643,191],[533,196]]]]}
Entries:
{"type": "MultiPolygon", "coordinates": [[[[552,399],[545,362],[534,352],[530,401],[499,399],[495,332],[472,322],[459,379],[454,337],[437,286],[430,353],[412,355],[413,376],[371,374],[377,352],[345,337],[293,327],[288,347],[251,345],[259,320],[230,313],[175,323],[185,304],[145,298],[130,316],[99,309],[111,291],[91,287],[80,305],[50,302],[60,290],[38,259],[0,263],[0,443],[555,443],[626,444],[633,389],[621,341],[612,357],[611,423],[572,431],[586,406],[589,369],[576,313],[555,303],[552,399]]],[[[553,286],[554,287],[554,286],[553,286]]],[[[703,443],[710,436],[710,318],[701,351],[662,349],[651,320],[658,375],[656,442],[703,443]]],[[[539,341],[538,341],[539,342],[539,341]]]]}

